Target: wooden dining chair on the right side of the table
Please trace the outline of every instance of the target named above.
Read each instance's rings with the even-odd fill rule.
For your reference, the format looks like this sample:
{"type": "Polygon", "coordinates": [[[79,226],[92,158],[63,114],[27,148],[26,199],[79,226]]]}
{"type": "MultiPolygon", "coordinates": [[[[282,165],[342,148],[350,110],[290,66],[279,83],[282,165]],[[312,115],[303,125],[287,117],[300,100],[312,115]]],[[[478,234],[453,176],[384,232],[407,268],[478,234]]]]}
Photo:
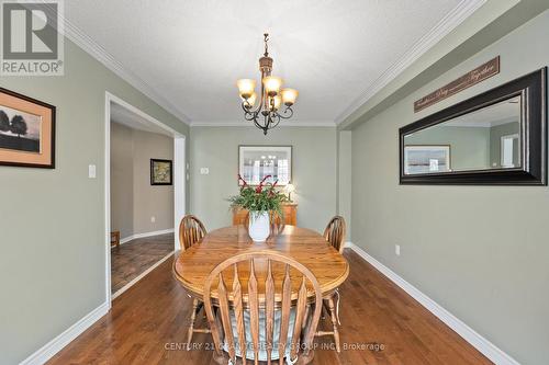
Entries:
{"type": "MultiPolygon", "coordinates": [[[[326,241],[339,253],[343,252],[345,246],[345,233],[346,233],[346,224],[345,219],[341,216],[335,216],[332,218],[324,230],[324,238],[326,241]]],[[[341,352],[341,345],[339,341],[339,288],[334,290],[334,293],[329,294],[324,298],[324,308],[328,311],[329,318],[332,320],[332,331],[317,331],[317,337],[323,335],[332,335],[334,337],[334,342],[336,344],[336,351],[341,352]]]]}

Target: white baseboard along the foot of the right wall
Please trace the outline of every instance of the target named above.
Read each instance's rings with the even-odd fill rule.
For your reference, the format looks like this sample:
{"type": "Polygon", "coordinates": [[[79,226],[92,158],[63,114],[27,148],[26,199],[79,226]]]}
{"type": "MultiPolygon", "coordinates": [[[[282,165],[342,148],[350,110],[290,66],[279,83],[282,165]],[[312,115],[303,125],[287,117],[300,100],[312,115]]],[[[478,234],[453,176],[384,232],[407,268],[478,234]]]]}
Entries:
{"type": "Polygon", "coordinates": [[[418,288],[399,276],[391,269],[386,267],[381,262],[366,253],[363,249],[352,242],[346,242],[345,247],[355,251],[362,259],[369,262],[373,267],[379,270],[383,275],[391,280],[394,284],[399,285],[402,289],[404,289],[404,292],[410,294],[415,300],[419,301],[422,306],[427,308],[427,310],[429,310],[438,319],[445,322],[449,328],[456,331],[460,337],[462,337],[467,342],[473,345],[493,363],[497,365],[519,365],[516,360],[514,360],[492,342],[477,333],[472,328],[463,323],[460,319],[442,308],[435,300],[423,294],[418,288]]]}

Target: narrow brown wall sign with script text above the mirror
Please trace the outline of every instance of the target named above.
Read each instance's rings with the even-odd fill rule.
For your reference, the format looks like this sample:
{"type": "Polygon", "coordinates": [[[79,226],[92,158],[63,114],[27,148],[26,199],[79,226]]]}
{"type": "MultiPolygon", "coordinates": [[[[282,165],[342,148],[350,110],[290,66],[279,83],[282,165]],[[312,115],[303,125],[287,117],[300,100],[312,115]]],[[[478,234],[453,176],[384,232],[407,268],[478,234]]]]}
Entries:
{"type": "Polygon", "coordinates": [[[414,113],[500,73],[500,56],[414,102],[414,113]]]}

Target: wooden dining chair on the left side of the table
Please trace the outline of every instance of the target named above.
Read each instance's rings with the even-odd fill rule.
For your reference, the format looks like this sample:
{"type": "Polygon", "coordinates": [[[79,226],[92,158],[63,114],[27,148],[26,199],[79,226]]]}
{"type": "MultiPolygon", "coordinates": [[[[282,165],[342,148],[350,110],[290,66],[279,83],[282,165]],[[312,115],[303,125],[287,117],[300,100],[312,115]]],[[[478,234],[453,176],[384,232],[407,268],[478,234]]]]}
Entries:
{"type": "MultiPolygon", "coordinates": [[[[187,250],[194,243],[199,242],[206,235],[206,229],[202,221],[193,215],[187,215],[179,224],[179,244],[181,250],[187,250]]],[[[190,297],[190,296],[189,296],[190,297]]],[[[192,299],[191,319],[189,321],[189,330],[187,334],[187,347],[189,349],[192,335],[194,333],[210,333],[208,328],[195,328],[197,315],[203,308],[204,304],[198,298],[192,299]]]]}

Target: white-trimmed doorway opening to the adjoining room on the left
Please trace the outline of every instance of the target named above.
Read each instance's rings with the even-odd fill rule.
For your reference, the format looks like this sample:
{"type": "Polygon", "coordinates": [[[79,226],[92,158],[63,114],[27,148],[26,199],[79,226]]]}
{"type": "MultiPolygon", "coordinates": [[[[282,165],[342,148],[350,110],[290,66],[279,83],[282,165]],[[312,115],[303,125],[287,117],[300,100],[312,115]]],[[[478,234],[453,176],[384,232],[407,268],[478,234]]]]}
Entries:
{"type": "Polygon", "coordinates": [[[179,248],[177,229],[186,212],[186,138],[109,92],[104,127],[105,297],[111,304],[179,248]],[[116,147],[111,151],[113,141],[116,147]],[[136,148],[124,149],[124,144],[136,148]],[[153,160],[158,158],[172,161],[171,185],[153,183],[153,160]],[[154,195],[144,202],[147,194],[154,195]],[[158,202],[160,206],[152,206],[158,202]]]}

